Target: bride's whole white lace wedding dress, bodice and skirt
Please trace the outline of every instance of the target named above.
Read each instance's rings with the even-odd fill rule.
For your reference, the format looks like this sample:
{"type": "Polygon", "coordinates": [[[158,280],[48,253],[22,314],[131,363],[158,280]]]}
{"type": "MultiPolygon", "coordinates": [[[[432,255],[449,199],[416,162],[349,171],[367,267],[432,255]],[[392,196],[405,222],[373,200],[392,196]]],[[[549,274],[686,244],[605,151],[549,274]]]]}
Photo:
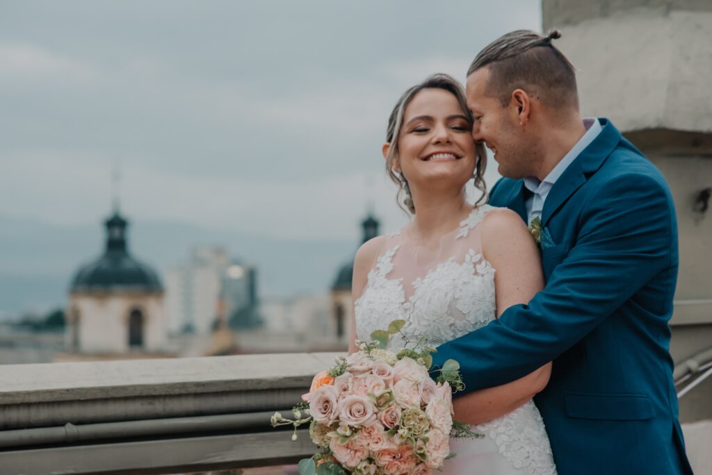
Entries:
{"type": "MultiPolygon", "coordinates": [[[[385,237],[382,254],[355,301],[358,338],[405,319],[411,341],[439,346],[485,326],[495,317],[494,269],[481,255],[478,224],[491,206],[474,208],[437,249],[412,245],[405,233],[385,237]]],[[[389,346],[402,347],[397,336],[389,346]]],[[[484,439],[451,439],[457,454],[445,474],[553,475],[556,468],[543,420],[533,401],[486,424],[473,426],[484,439]]]]}

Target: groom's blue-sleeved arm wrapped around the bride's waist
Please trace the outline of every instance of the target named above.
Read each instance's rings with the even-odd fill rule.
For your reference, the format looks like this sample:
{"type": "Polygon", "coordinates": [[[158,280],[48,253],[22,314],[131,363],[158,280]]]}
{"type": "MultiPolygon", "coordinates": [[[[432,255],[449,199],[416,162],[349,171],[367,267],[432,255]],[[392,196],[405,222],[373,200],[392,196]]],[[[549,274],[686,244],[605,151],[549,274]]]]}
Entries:
{"type": "Polygon", "coordinates": [[[577,241],[542,292],[437,348],[434,365],[457,360],[466,392],[508,383],[553,361],[676,265],[674,208],[662,178],[622,174],[582,208],[577,241]]]}

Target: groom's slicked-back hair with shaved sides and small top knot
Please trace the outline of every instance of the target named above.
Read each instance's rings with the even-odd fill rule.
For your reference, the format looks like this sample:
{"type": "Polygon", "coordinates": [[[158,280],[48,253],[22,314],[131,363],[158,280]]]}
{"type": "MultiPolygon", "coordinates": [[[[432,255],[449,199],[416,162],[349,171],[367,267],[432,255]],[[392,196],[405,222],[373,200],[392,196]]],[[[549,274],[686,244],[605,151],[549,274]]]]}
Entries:
{"type": "Polygon", "coordinates": [[[485,92],[509,104],[512,91],[522,89],[549,107],[578,109],[576,73],[573,65],[551,42],[561,33],[548,36],[517,30],[490,43],[472,61],[467,75],[489,66],[485,92]]]}

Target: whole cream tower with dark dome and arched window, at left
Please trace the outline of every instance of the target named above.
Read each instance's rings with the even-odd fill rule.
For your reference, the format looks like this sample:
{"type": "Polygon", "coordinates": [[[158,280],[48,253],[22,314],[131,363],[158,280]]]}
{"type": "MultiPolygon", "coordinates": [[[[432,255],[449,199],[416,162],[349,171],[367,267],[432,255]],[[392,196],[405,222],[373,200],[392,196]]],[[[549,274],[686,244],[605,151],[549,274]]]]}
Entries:
{"type": "Polygon", "coordinates": [[[128,221],[105,222],[106,250],[80,267],[70,286],[66,343],[79,353],[152,352],[164,348],[163,287],[127,249],[128,221]]]}

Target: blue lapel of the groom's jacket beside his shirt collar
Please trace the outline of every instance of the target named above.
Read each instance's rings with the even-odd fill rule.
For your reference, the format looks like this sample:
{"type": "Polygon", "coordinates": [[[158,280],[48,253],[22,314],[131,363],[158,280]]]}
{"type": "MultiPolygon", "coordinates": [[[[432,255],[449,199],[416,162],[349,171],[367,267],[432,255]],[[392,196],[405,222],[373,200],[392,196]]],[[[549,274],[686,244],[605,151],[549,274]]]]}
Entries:
{"type": "Polygon", "coordinates": [[[564,173],[554,183],[544,202],[541,221],[545,226],[551,216],[567,199],[577,191],[588,177],[594,173],[621,140],[621,134],[608,119],[599,119],[602,130],[598,137],[587,146],[579,156],[568,166],[564,173]]]}

